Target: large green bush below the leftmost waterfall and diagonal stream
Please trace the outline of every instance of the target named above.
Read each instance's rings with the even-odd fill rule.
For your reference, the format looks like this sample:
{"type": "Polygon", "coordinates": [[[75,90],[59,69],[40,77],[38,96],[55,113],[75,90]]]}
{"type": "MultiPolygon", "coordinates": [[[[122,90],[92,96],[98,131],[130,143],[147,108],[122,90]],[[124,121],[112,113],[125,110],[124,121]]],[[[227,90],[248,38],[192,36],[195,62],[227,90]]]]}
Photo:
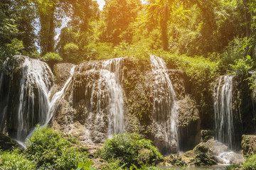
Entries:
{"type": "Polygon", "coordinates": [[[86,152],[68,149],[70,142],[51,128],[36,128],[26,144],[26,157],[36,163],[37,169],[92,169],[86,152]]]}

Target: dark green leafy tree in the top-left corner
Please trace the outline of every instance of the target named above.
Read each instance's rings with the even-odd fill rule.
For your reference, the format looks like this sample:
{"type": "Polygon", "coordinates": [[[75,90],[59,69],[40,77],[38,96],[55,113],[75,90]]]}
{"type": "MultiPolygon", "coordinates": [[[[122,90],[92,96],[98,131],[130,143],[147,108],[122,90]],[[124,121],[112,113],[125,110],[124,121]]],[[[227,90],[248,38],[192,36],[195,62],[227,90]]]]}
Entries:
{"type": "Polygon", "coordinates": [[[27,0],[0,2],[0,64],[6,58],[14,60],[14,55],[29,55],[36,50],[34,21],[27,0]]]}

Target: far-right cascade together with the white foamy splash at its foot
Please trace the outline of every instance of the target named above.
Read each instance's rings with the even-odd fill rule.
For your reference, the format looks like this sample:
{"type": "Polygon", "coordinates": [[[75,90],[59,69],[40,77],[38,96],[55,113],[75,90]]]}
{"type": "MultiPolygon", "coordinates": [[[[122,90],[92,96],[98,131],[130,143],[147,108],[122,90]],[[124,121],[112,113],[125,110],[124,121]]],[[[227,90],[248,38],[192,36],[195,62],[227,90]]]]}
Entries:
{"type": "Polygon", "coordinates": [[[233,76],[222,76],[214,87],[215,149],[218,162],[223,164],[242,163],[242,154],[233,152],[234,127],[232,108],[233,76]],[[225,145],[223,145],[225,144],[225,145]],[[227,146],[226,146],[227,145],[227,146]]]}

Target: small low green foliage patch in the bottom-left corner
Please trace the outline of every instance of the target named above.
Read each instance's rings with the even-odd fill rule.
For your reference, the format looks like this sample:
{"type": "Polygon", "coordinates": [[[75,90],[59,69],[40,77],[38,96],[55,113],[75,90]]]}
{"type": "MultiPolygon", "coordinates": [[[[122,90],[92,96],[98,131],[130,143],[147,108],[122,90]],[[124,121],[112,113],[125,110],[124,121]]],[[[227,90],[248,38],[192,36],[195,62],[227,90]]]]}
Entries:
{"type": "Polygon", "coordinates": [[[20,149],[14,148],[11,152],[0,152],[0,169],[36,170],[36,166],[21,154],[20,149]]]}

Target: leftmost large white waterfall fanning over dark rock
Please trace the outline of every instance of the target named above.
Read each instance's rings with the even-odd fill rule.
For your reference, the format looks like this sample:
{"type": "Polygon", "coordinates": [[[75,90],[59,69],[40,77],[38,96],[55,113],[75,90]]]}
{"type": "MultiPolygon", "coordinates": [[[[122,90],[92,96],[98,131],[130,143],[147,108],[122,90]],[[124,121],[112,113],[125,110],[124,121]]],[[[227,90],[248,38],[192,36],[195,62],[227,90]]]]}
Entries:
{"type": "Polygon", "coordinates": [[[46,121],[50,108],[49,95],[53,86],[53,73],[45,62],[24,57],[19,86],[16,140],[23,141],[34,125],[42,125],[46,121]]]}

